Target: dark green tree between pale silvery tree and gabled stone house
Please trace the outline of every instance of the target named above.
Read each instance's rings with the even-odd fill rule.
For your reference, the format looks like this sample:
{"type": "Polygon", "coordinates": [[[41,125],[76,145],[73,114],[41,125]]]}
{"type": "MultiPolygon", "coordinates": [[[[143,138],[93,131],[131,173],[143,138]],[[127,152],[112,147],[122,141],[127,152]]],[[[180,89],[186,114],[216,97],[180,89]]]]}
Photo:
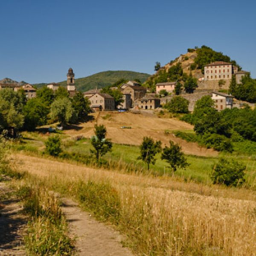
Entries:
{"type": "Polygon", "coordinates": [[[82,116],[87,116],[88,113],[90,113],[90,101],[88,98],[85,98],[81,92],[77,92],[71,101],[72,107],[76,111],[79,119],[81,119],[82,116]]]}

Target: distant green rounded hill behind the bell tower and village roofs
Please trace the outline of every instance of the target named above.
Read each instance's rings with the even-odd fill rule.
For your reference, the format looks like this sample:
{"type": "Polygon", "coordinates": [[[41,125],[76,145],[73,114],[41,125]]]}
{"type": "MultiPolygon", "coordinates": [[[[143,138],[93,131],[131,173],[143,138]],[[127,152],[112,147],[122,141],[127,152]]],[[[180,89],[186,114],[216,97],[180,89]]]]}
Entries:
{"type": "MultiPolygon", "coordinates": [[[[87,90],[94,89],[96,87],[103,88],[107,85],[113,84],[119,79],[134,80],[139,79],[141,82],[145,82],[150,75],[146,73],[138,73],[134,71],[104,71],[93,74],[92,76],[87,76],[83,78],[75,79],[77,90],[84,92],[87,90]]],[[[67,80],[59,82],[61,86],[67,85],[67,80]]],[[[38,88],[46,84],[34,84],[38,88]]]]}

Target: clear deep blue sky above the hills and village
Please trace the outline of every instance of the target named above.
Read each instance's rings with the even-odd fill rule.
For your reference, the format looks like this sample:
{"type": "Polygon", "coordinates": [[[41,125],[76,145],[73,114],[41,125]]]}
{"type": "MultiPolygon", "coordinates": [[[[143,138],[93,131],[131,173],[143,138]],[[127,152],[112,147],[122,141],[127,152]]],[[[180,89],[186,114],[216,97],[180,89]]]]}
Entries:
{"type": "Polygon", "coordinates": [[[256,78],[251,0],[0,1],[0,79],[58,82],[105,70],[154,73],[203,44],[256,78]]]}

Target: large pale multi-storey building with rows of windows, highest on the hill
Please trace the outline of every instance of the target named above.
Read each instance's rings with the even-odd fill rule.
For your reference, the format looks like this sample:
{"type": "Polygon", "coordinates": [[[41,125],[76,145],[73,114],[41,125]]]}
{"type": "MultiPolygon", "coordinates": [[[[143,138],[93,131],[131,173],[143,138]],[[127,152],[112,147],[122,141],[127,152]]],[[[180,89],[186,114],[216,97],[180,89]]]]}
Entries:
{"type": "Polygon", "coordinates": [[[226,80],[231,79],[232,74],[237,73],[238,67],[229,62],[216,61],[204,66],[204,80],[226,80]]]}

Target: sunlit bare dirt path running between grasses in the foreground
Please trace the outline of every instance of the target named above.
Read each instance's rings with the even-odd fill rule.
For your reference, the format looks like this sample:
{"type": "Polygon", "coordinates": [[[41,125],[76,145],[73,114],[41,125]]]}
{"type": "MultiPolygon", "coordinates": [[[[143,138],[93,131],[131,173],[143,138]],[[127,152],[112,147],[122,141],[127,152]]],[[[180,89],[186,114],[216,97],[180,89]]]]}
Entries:
{"type": "Polygon", "coordinates": [[[132,256],[120,243],[122,236],[111,227],[95,221],[70,199],[62,199],[62,212],[66,215],[70,233],[76,236],[79,255],[86,256],[132,256]]]}

